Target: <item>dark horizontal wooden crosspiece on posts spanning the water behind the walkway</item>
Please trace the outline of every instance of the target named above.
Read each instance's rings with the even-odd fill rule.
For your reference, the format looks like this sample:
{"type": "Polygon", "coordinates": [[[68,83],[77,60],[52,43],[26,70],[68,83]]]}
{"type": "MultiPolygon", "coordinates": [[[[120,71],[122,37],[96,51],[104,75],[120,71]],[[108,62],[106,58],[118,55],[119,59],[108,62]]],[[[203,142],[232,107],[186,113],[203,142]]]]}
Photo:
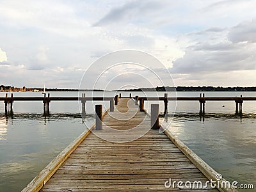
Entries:
{"type": "MultiPolygon", "coordinates": [[[[50,97],[50,93],[46,95],[44,94],[44,97],[13,97],[13,93],[11,93],[11,97],[8,97],[8,93],[6,93],[5,97],[0,97],[0,100],[4,101],[5,104],[5,113],[13,113],[13,102],[14,101],[42,101],[44,104],[44,114],[49,115],[50,114],[50,103],[51,101],[72,101],[72,100],[79,100],[82,103],[82,111],[81,113],[85,113],[85,104],[86,101],[92,101],[92,100],[106,100],[110,102],[110,111],[114,110],[114,103],[117,105],[119,98],[121,98],[122,95],[119,93],[119,95],[116,95],[115,98],[113,97],[86,97],[85,93],[82,93],[82,97],[50,97]],[[46,97],[47,96],[47,97],[46,97]]],[[[132,98],[131,93],[129,94],[129,97],[132,98]]],[[[242,115],[243,113],[243,102],[246,100],[255,100],[256,97],[243,97],[243,95],[240,95],[240,97],[205,97],[205,93],[200,93],[200,97],[168,97],[168,93],[164,93],[164,97],[134,97],[133,99],[137,100],[140,104],[140,111],[144,111],[144,102],[147,100],[161,100],[164,102],[164,115],[168,112],[168,102],[169,101],[198,101],[200,103],[200,114],[205,113],[205,103],[207,101],[234,101],[236,104],[236,114],[242,115]]]]}

